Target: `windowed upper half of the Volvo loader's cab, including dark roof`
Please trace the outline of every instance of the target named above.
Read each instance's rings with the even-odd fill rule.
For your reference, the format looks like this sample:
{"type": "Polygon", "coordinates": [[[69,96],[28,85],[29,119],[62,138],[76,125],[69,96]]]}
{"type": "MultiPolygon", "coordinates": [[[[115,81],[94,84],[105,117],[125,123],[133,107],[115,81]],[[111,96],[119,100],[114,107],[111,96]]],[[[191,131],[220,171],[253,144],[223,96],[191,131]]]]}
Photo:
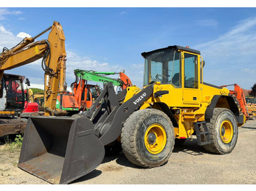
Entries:
{"type": "MultiPolygon", "coordinates": [[[[143,86],[161,82],[161,84],[171,84],[174,87],[184,85],[187,88],[198,88],[197,63],[200,62],[200,51],[189,47],[170,46],[143,52],[141,55],[145,58],[143,86]],[[182,78],[182,66],[184,66],[184,78],[182,78]]],[[[203,59],[201,60],[203,63],[203,59]]],[[[202,79],[202,74],[203,68],[200,79],[202,79]]]]}

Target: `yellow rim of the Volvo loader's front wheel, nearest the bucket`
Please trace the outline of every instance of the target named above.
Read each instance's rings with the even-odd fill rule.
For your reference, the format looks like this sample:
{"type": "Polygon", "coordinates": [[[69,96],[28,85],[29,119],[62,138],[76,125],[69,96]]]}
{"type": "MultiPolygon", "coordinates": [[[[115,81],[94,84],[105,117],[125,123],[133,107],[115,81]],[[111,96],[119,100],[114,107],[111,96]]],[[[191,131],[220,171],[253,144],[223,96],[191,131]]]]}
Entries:
{"type": "Polygon", "coordinates": [[[152,154],[162,152],[162,149],[165,148],[166,140],[165,128],[162,125],[154,123],[147,128],[144,142],[148,152],[152,154]]]}

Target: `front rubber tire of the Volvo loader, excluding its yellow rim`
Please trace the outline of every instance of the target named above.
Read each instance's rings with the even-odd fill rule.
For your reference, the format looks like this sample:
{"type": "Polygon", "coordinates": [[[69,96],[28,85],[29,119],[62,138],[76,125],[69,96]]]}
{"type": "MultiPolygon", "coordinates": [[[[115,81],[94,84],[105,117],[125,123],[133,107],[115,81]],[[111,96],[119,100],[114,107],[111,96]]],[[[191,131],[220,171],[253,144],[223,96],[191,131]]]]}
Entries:
{"type": "Polygon", "coordinates": [[[133,112],[124,122],[121,132],[121,147],[127,159],[138,166],[153,168],[167,163],[174,146],[174,130],[170,118],[157,109],[143,109],[133,112]],[[157,123],[166,133],[166,144],[158,154],[148,152],[144,143],[147,128],[157,123]]]}

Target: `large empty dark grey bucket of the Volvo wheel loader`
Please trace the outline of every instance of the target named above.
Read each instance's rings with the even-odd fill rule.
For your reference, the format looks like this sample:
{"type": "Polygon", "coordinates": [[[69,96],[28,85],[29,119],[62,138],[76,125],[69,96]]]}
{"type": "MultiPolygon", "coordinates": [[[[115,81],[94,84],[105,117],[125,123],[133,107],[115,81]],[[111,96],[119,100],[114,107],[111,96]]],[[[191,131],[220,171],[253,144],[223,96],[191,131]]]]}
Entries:
{"type": "Polygon", "coordinates": [[[97,168],[104,155],[87,117],[30,117],[18,167],[51,184],[68,184],[97,168]]]}

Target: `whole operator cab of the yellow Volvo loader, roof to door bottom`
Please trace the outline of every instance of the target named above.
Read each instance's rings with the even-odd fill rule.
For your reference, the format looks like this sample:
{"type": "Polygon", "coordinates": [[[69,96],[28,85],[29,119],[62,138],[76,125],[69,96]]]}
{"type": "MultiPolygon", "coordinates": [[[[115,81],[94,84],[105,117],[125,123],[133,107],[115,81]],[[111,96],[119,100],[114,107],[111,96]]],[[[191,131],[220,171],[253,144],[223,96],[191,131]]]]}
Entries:
{"type": "Polygon", "coordinates": [[[177,96],[169,105],[182,103],[199,106],[203,87],[203,58],[200,51],[170,46],[141,55],[145,58],[143,86],[160,82],[162,90],[176,91],[177,96]]]}

